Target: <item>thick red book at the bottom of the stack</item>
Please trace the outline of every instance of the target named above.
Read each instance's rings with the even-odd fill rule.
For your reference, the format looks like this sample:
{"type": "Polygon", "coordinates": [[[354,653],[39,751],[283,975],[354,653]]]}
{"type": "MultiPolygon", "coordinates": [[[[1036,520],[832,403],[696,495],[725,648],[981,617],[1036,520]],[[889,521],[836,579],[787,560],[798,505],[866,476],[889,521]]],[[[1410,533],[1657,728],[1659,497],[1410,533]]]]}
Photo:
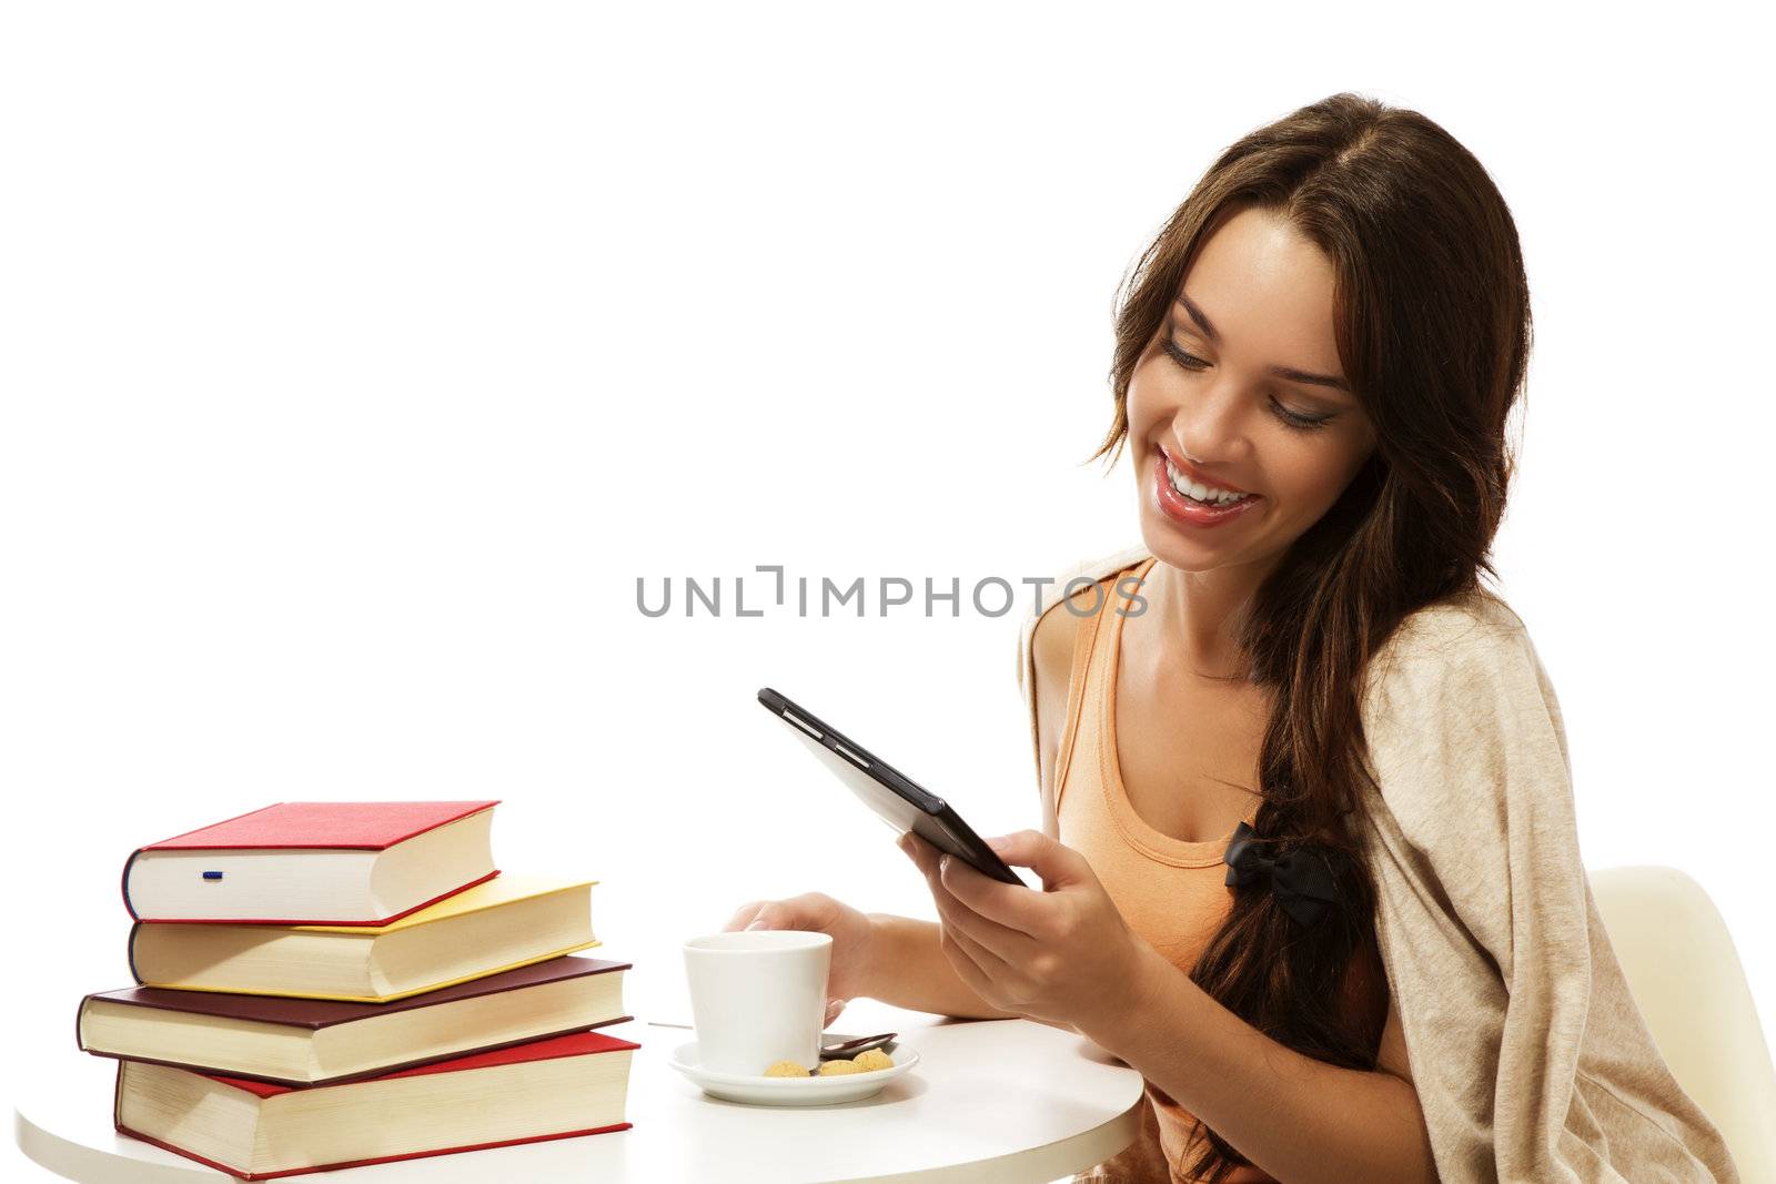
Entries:
{"type": "Polygon", "coordinates": [[[311,1088],[119,1062],[115,1124],[245,1180],[604,1134],[630,1127],[639,1047],[581,1031],[311,1088]]]}

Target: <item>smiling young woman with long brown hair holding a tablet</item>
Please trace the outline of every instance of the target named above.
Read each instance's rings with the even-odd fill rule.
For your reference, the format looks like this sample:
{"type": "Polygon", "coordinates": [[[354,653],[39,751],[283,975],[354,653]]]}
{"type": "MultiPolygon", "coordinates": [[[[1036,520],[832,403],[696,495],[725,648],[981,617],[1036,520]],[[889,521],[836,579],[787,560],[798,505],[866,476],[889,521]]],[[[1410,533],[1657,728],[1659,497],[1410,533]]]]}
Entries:
{"type": "Polygon", "coordinates": [[[1043,891],[906,836],[940,923],[826,895],[870,996],[1076,1030],[1146,1077],[1082,1180],[1735,1180],[1591,902],[1552,685],[1490,564],[1531,346],[1510,211],[1337,94],[1229,147],[1121,293],[1144,545],[1019,637],[1043,891]]]}

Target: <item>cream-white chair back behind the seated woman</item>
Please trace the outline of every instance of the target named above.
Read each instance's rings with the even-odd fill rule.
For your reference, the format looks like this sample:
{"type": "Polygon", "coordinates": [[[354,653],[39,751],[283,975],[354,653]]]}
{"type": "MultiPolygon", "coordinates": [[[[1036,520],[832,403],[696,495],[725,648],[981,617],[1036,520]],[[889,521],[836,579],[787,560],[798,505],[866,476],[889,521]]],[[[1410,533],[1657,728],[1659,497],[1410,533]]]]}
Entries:
{"type": "Polygon", "coordinates": [[[1671,1076],[1719,1127],[1740,1179],[1776,1184],[1776,1069],[1709,893],[1677,868],[1600,868],[1588,877],[1671,1076]]]}

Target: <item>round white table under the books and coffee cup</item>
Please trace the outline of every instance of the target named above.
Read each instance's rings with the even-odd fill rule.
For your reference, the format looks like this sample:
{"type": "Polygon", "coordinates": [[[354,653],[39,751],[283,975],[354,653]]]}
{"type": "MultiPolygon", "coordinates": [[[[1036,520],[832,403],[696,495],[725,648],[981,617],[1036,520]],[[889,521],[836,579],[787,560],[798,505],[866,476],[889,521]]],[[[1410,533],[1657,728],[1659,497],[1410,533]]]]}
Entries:
{"type": "MultiPolygon", "coordinates": [[[[945,1021],[865,999],[833,1030],[899,1031],[918,1047],[920,1063],[861,1102],[741,1106],[707,1097],[666,1063],[693,1031],[634,1021],[606,1028],[641,1044],[629,1131],[295,1179],[1043,1184],[1108,1159],[1137,1134],[1140,1074],[1069,1031],[1021,1019],[945,1021]]],[[[41,1053],[37,1065],[37,1074],[20,1076],[30,1093],[14,1099],[12,1125],[20,1148],[44,1168],[92,1184],[234,1179],[117,1134],[114,1062],[66,1047],[41,1053]]]]}

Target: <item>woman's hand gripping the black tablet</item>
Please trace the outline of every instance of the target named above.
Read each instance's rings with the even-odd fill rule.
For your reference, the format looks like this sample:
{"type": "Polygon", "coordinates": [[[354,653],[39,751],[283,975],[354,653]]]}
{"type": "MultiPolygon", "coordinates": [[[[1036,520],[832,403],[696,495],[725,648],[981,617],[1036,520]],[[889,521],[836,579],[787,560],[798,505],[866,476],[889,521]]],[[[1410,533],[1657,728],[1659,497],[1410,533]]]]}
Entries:
{"type": "Polygon", "coordinates": [[[961,980],[1003,1012],[1080,1033],[1138,1008],[1158,953],[1122,921],[1085,856],[1041,831],[986,841],[1043,877],[1043,891],[982,875],[911,831],[900,838],[931,886],[943,953],[961,980]]]}

